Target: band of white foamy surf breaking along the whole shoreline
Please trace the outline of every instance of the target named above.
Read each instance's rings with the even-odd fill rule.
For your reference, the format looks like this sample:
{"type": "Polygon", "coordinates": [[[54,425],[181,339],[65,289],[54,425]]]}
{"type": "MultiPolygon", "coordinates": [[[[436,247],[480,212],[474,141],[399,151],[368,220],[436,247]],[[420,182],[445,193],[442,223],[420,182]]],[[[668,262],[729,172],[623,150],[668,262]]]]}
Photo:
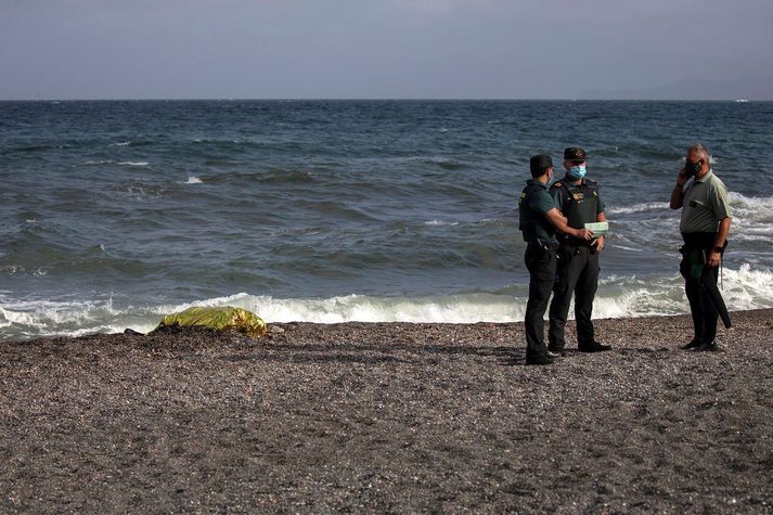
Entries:
{"type": "MultiPolygon", "coordinates": [[[[116,309],[105,301],[13,301],[0,295],[0,340],[46,335],[147,332],[164,314],[193,306],[236,306],[268,322],[416,322],[476,323],[524,320],[527,286],[500,293],[426,297],[345,295],[331,298],[274,298],[236,295],[178,305],[116,309]]],[[[731,311],[773,308],[773,271],[743,265],[725,269],[723,296],[731,311]]],[[[601,281],[594,304],[596,319],[646,317],[687,312],[682,278],[673,275],[608,276],[601,281]]],[[[571,318],[572,310],[569,316],[571,318]]]]}

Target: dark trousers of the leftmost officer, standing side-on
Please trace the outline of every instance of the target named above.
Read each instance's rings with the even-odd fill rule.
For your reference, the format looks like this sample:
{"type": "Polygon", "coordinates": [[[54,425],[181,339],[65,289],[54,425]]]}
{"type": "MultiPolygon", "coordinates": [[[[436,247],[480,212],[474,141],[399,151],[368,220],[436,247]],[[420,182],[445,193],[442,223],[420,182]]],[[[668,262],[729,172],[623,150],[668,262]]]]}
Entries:
{"type": "Polygon", "coordinates": [[[546,353],[544,343],[544,316],[547,300],[555,283],[555,245],[529,243],[524,262],[529,270],[529,300],[526,302],[526,356],[540,357],[546,353]]]}

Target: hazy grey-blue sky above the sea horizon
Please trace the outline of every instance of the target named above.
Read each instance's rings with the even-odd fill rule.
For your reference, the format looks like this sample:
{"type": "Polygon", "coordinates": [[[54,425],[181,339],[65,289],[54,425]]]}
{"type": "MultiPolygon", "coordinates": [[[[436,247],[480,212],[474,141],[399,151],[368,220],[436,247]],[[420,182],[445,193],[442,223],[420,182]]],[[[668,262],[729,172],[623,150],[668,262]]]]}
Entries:
{"type": "Polygon", "coordinates": [[[773,100],[771,0],[0,0],[0,100],[773,100]]]}

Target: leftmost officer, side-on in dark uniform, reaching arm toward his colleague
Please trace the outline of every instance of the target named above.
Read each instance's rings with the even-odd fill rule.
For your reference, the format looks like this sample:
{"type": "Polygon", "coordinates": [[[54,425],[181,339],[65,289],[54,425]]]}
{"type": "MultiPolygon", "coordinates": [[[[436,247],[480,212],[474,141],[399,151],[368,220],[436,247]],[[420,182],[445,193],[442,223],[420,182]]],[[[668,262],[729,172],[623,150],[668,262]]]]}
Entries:
{"type": "Polygon", "coordinates": [[[591,232],[572,229],[558,211],[547,193],[553,178],[553,162],[549,155],[536,155],[529,163],[531,179],[518,199],[519,227],[527,242],[524,261],[529,270],[529,300],[526,304],[526,362],[550,364],[555,355],[547,351],[543,339],[543,317],[555,282],[556,229],[577,240],[590,240],[591,232]]]}

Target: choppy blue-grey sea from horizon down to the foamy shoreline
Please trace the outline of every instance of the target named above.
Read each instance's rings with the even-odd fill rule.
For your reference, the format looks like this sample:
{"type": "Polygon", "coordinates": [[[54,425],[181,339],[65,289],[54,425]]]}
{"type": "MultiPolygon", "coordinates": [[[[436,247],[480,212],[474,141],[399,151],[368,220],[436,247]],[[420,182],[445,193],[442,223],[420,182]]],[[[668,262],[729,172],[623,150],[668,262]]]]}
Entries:
{"type": "Polygon", "coordinates": [[[270,322],[523,320],[529,156],[589,153],[611,234],[594,316],[686,312],[684,150],[734,223],[731,309],[773,307],[773,103],[0,102],[0,339],[270,322]]]}

